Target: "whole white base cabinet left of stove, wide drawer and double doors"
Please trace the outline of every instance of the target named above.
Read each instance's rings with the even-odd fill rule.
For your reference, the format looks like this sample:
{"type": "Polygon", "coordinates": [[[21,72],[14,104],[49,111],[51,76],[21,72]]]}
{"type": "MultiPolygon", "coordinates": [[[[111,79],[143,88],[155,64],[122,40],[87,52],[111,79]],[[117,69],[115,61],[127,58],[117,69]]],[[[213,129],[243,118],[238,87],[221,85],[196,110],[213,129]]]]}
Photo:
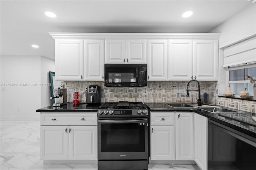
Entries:
{"type": "Polygon", "coordinates": [[[40,123],[41,160],[97,160],[97,113],[41,113],[40,123]]]}

